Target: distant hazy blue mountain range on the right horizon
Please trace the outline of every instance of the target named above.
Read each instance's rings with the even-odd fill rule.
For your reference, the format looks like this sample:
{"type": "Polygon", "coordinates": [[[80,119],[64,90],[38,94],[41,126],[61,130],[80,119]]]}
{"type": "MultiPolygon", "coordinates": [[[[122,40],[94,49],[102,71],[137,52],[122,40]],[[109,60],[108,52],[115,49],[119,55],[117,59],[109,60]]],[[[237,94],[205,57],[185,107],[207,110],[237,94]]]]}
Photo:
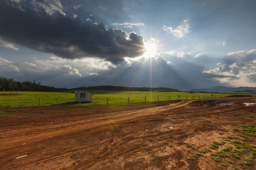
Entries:
{"type": "MultiPolygon", "coordinates": [[[[199,89],[201,92],[234,92],[234,91],[244,91],[244,90],[256,90],[256,87],[225,87],[225,86],[217,86],[210,88],[201,88],[199,89]]],[[[195,90],[197,92],[197,89],[195,90]]]]}

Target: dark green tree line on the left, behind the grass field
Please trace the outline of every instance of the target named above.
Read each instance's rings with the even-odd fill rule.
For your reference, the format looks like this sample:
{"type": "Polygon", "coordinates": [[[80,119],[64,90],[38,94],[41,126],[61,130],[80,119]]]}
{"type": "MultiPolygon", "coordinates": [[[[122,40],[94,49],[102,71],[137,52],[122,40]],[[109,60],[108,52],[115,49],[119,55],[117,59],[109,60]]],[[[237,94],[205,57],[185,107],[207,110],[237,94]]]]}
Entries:
{"type": "Polygon", "coordinates": [[[15,81],[14,78],[0,77],[0,91],[37,91],[37,92],[62,92],[66,88],[55,88],[53,86],[41,85],[41,82],[15,81]]]}

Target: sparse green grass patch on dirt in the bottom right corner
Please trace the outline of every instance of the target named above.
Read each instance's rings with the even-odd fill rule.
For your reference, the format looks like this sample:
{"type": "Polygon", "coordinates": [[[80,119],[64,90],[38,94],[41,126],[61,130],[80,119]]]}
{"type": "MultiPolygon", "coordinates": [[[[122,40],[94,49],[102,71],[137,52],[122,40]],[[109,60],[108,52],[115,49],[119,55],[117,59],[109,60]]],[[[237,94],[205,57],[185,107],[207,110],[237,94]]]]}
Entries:
{"type": "MultiPolygon", "coordinates": [[[[256,157],[256,127],[253,124],[248,124],[239,128],[240,129],[236,132],[237,136],[243,138],[237,136],[222,137],[229,140],[228,144],[225,142],[212,141],[210,148],[203,149],[200,154],[207,158],[207,155],[204,154],[213,150],[214,152],[210,154],[210,158],[219,163],[217,169],[225,167],[228,170],[240,170],[247,169],[246,166],[253,167],[256,157]],[[243,135],[238,134],[239,132],[242,132],[243,135]]],[[[194,155],[198,157],[198,155],[194,155]]],[[[194,160],[195,157],[192,155],[192,160],[194,160]]]]}

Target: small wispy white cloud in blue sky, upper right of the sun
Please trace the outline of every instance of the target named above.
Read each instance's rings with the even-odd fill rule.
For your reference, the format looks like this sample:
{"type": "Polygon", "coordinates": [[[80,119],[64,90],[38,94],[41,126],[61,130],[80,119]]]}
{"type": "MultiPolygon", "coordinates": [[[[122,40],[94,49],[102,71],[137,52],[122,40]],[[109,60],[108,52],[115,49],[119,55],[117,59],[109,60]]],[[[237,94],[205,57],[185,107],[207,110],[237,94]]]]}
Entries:
{"type": "Polygon", "coordinates": [[[163,27],[165,31],[167,31],[168,33],[174,34],[174,36],[178,38],[182,38],[185,35],[189,34],[190,28],[191,28],[191,24],[188,23],[187,19],[183,20],[183,24],[180,26],[177,26],[175,29],[173,29],[171,26],[168,27],[164,25],[163,27]]]}

